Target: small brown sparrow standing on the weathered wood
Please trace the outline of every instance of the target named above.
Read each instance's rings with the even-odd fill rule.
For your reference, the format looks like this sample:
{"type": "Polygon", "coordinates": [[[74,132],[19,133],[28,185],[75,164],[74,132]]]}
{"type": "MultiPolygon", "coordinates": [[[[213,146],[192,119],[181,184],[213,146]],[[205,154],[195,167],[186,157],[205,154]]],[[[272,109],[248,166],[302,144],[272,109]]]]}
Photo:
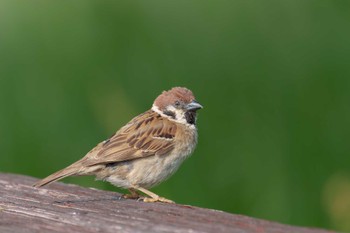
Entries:
{"type": "Polygon", "coordinates": [[[129,190],[124,198],[174,203],[149,189],[173,175],[194,151],[197,110],[202,108],[185,87],[163,91],[151,109],[134,117],[82,159],[33,186],[42,187],[68,176],[94,175],[96,180],[129,190]]]}

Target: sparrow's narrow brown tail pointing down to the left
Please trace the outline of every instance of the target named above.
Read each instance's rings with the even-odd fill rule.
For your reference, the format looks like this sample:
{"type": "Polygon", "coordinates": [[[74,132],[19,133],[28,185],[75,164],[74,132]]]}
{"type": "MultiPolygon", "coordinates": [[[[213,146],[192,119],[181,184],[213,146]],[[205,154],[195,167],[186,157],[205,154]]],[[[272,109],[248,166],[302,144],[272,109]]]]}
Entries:
{"type": "Polygon", "coordinates": [[[58,181],[60,179],[68,177],[68,176],[79,175],[80,170],[81,170],[80,168],[81,168],[80,164],[78,164],[77,162],[73,163],[72,165],[70,165],[64,169],[62,169],[58,172],[55,172],[42,180],[39,180],[38,182],[33,184],[33,187],[42,187],[44,185],[50,184],[52,182],[58,181]]]}

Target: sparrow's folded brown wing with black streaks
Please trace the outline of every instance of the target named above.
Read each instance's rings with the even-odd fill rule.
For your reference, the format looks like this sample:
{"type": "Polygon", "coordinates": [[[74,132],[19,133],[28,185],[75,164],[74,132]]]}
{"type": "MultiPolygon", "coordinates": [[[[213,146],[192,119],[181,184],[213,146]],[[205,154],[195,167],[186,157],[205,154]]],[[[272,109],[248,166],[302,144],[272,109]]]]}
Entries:
{"type": "Polygon", "coordinates": [[[175,122],[152,110],[147,111],[90,151],[82,159],[82,165],[93,166],[167,154],[174,149],[176,130],[175,122]]]}

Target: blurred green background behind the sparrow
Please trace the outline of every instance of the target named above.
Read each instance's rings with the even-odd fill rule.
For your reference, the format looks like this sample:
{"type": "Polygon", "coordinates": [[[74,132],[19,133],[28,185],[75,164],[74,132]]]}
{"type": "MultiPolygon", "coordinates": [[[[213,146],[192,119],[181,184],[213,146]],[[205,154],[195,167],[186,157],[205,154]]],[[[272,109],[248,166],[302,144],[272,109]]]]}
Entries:
{"type": "Polygon", "coordinates": [[[199,144],[153,191],[350,231],[350,1],[0,1],[1,172],[49,175],[173,86],[199,144]]]}

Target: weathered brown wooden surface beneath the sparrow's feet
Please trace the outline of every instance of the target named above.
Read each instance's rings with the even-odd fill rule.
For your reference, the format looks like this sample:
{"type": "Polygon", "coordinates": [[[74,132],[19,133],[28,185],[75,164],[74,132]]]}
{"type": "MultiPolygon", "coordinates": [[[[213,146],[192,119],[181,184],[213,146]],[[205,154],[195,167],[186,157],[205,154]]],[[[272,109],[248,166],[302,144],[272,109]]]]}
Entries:
{"type": "Polygon", "coordinates": [[[0,232],[326,233],[222,211],[143,203],[120,194],[62,183],[32,188],[36,179],[0,173],[0,232]]]}

